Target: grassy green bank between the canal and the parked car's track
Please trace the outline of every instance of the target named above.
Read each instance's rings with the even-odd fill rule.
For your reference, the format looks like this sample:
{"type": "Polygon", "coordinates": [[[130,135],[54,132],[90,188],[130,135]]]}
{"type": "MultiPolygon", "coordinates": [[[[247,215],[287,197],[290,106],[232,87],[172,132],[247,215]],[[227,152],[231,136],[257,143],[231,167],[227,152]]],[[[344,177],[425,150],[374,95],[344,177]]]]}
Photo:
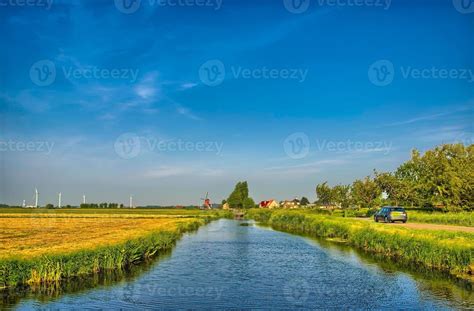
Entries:
{"type": "Polygon", "coordinates": [[[307,211],[252,209],[247,217],[277,230],[343,241],[474,282],[474,234],[414,230],[307,211]]]}

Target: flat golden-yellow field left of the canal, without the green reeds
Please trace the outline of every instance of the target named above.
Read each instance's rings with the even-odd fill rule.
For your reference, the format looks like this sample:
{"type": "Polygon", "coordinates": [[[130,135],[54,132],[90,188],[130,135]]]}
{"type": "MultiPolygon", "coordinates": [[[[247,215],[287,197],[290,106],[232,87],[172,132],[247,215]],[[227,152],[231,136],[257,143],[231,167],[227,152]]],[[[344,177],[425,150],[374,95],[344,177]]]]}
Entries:
{"type": "Polygon", "coordinates": [[[178,223],[192,221],[190,218],[163,216],[134,219],[133,215],[127,218],[103,215],[83,215],[84,218],[59,218],[52,215],[21,218],[2,216],[5,214],[0,214],[0,259],[29,259],[40,255],[94,249],[123,243],[152,232],[174,231],[178,223]]]}

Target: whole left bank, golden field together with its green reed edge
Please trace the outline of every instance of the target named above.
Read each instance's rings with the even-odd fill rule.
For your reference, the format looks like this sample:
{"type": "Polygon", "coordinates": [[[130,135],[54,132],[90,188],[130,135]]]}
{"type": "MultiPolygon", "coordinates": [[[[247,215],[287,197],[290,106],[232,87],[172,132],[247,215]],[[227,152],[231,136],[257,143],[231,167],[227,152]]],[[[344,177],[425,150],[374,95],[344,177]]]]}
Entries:
{"type": "Polygon", "coordinates": [[[138,217],[130,210],[82,211],[78,217],[67,210],[2,210],[0,288],[125,269],[169,250],[184,232],[225,216],[157,212],[138,217]]]}

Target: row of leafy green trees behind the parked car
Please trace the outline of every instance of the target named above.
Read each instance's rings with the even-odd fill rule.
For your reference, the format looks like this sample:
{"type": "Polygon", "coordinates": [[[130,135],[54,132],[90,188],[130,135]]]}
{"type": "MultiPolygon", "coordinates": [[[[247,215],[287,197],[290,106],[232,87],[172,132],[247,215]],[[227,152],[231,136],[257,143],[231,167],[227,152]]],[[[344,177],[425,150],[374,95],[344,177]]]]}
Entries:
{"type": "Polygon", "coordinates": [[[316,186],[318,203],[348,207],[381,204],[474,210],[474,145],[445,144],[411,159],[395,172],[377,172],[352,185],[316,186]]]}

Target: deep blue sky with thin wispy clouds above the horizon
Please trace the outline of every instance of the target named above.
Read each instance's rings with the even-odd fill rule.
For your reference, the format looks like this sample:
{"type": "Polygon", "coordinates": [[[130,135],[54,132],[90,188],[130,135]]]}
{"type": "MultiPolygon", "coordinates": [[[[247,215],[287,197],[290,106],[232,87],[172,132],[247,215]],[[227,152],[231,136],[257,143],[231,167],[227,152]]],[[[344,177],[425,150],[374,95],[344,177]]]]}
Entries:
{"type": "Polygon", "coordinates": [[[0,0],[0,202],[314,200],[471,143],[458,2],[0,0]]]}

